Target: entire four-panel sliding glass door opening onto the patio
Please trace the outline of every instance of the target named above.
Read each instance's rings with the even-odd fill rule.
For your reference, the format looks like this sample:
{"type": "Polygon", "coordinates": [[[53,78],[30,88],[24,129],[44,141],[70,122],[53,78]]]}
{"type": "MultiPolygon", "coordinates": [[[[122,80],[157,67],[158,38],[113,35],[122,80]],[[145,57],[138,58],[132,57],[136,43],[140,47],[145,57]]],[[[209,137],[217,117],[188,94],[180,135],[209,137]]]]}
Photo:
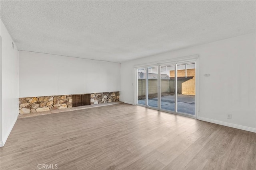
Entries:
{"type": "Polygon", "coordinates": [[[137,104],[176,114],[196,115],[196,62],[137,69],[137,104]]]}

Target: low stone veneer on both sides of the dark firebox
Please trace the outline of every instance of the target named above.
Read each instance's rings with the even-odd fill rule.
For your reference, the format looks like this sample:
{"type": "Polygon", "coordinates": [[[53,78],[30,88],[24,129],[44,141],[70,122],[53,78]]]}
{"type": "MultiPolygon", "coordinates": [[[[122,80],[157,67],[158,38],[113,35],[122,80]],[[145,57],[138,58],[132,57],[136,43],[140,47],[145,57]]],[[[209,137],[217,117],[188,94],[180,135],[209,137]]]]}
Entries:
{"type": "MultiPolygon", "coordinates": [[[[119,92],[93,93],[90,98],[91,105],[118,101],[119,92]]],[[[19,106],[20,114],[71,108],[72,95],[19,98],[19,106]]]]}

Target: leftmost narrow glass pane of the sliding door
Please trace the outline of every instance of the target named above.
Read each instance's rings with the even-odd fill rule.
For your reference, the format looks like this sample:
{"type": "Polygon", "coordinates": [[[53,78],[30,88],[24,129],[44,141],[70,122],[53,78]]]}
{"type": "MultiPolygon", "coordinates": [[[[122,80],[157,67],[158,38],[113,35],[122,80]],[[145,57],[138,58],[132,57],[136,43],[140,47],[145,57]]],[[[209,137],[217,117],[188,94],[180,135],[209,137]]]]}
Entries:
{"type": "Polygon", "coordinates": [[[138,104],[146,105],[146,68],[137,69],[138,104]]]}

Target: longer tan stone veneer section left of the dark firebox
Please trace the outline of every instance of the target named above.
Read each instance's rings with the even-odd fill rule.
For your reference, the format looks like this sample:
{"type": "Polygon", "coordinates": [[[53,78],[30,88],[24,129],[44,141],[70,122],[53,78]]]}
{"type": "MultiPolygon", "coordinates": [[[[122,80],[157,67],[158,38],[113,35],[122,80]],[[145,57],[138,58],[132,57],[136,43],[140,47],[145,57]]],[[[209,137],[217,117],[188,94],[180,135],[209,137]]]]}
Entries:
{"type": "Polygon", "coordinates": [[[19,113],[35,113],[72,107],[72,95],[19,98],[19,113]]]}

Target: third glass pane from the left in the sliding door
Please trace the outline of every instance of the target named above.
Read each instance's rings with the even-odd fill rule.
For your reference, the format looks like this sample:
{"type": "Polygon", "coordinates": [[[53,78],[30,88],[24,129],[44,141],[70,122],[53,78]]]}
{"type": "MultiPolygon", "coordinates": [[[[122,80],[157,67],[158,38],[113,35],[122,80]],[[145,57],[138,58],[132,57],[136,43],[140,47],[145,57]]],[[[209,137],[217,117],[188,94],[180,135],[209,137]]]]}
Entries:
{"type": "Polygon", "coordinates": [[[175,64],[160,66],[161,109],[175,112],[175,64]]]}

